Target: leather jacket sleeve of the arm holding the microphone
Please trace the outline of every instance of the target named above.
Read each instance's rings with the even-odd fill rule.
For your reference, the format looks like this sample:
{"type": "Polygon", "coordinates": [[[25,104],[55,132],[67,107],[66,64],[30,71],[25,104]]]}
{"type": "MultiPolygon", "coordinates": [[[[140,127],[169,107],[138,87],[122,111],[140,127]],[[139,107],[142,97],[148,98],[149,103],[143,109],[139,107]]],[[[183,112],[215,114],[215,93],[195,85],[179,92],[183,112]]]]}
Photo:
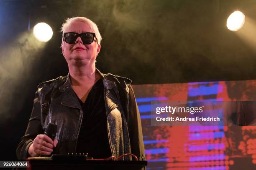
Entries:
{"type": "Polygon", "coordinates": [[[31,117],[28,120],[28,127],[26,130],[25,135],[21,138],[20,143],[18,144],[16,155],[18,160],[25,160],[29,157],[28,155],[28,148],[33,143],[34,138],[37,135],[43,134],[44,131],[41,126],[41,107],[40,107],[40,100],[38,96],[38,90],[36,91],[33,109],[31,112],[31,117]]]}

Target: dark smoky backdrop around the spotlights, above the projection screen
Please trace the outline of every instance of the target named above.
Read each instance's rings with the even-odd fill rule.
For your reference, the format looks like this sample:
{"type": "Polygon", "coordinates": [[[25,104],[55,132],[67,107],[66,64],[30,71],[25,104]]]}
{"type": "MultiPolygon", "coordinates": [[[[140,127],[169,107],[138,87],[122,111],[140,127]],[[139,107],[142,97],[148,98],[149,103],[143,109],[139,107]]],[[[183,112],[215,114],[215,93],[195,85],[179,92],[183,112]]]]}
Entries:
{"type": "Polygon", "coordinates": [[[16,159],[37,85],[67,75],[64,19],[94,21],[103,37],[97,68],[133,84],[256,79],[256,45],[238,36],[243,28],[226,28],[235,10],[256,20],[255,0],[0,0],[0,160],[16,159]],[[54,31],[39,45],[38,22],[54,31]]]}

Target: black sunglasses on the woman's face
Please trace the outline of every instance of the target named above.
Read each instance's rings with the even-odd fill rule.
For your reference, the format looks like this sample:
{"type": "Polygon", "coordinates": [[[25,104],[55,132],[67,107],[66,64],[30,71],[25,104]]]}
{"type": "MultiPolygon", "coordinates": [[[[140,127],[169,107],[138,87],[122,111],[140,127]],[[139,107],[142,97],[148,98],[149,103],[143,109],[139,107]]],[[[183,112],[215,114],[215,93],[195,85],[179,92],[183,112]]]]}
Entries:
{"type": "Polygon", "coordinates": [[[92,32],[82,32],[81,34],[78,34],[76,32],[65,32],[63,35],[65,42],[67,42],[68,44],[74,44],[78,37],[81,37],[84,44],[91,44],[95,37],[95,33],[92,32]]]}

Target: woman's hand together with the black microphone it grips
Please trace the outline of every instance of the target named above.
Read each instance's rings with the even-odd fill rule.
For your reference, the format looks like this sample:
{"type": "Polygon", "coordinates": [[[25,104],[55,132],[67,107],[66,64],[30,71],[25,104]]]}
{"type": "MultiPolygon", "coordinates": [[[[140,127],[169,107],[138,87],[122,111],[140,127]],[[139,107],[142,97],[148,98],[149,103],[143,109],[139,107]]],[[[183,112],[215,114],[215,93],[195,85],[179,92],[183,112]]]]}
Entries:
{"type": "Polygon", "coordinates": [[[50,155],[53,148],[56,147],[58,140],[54,139],[57,132],[57,125],[49,123],[46,127],[44,135],[37,135],[33,144],[28,148],[28,153],[32,157],[39,155],[50,155]]]}

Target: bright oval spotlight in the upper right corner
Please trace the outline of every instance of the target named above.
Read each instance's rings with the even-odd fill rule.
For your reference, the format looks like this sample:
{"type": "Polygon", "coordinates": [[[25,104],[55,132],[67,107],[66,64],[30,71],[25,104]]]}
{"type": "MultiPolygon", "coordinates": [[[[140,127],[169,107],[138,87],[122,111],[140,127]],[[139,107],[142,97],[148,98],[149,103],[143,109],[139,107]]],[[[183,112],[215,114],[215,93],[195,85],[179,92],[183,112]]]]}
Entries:
{"type": "Polygon", "coordinates": [[[231,31],[237,31],[243,27],[245,16],[240,11],[235,11],[229,15],[227,20],[227,27],[231,31]]]}

